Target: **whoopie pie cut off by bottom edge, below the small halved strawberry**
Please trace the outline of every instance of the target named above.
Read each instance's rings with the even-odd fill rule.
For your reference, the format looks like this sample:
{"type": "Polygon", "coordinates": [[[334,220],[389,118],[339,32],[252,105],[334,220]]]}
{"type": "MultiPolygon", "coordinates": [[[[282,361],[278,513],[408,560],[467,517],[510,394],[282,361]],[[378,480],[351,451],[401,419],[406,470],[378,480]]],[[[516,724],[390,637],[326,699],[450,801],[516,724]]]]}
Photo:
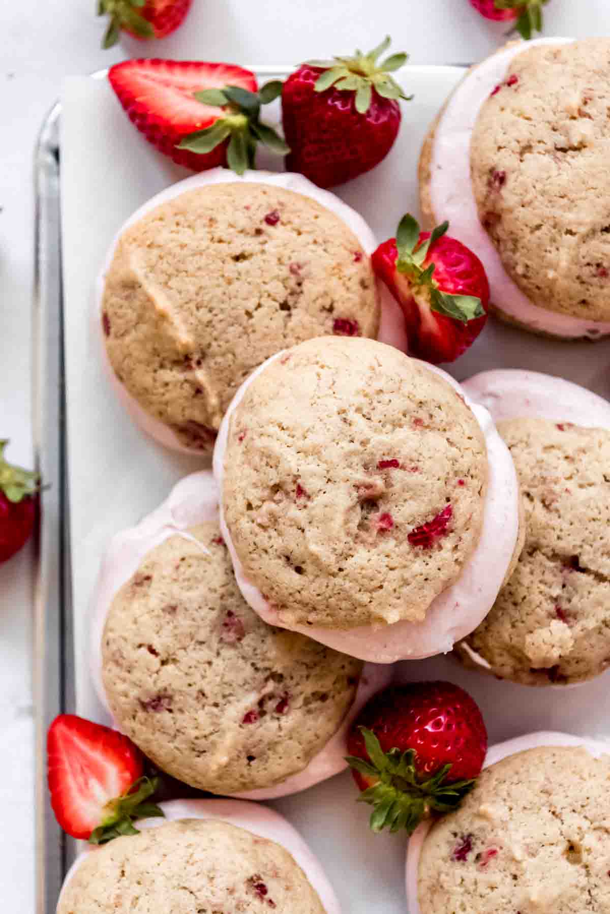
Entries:
{"type": "Polygon", "coordinates": [[[57,914],[340,914],[322,866],[273,810],[178,800],[162,803],[160,813],[138,822],[134,834],[82,853],[57,914]]]}

